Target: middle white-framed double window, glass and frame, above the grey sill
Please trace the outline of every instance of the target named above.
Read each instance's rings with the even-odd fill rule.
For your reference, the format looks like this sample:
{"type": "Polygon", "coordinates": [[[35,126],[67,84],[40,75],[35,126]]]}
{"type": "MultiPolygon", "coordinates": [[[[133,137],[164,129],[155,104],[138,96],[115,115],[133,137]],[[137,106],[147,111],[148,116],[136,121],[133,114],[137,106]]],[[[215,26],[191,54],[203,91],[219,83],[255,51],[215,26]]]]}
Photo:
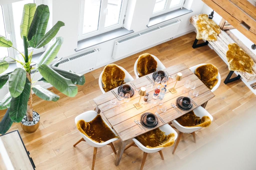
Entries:
{"type": "Polygon", "coordinates": [[[81,0],[78,39],[123,26],[127,0],[81,0]]]}

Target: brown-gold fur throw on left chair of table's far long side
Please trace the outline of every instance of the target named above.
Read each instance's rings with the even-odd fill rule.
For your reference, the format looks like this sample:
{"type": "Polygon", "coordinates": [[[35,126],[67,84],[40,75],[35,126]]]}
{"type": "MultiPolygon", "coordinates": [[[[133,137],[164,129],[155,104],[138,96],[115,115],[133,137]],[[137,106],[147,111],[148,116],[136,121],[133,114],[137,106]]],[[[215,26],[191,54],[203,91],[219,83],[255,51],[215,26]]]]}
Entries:
{"type": "Polygon", "coordinates": [[[124,82],[125,73],[116,64],[108,64],[105,66],[101,81],[104,85],[103,89],[108,92],[122,84],[124,82]]]}

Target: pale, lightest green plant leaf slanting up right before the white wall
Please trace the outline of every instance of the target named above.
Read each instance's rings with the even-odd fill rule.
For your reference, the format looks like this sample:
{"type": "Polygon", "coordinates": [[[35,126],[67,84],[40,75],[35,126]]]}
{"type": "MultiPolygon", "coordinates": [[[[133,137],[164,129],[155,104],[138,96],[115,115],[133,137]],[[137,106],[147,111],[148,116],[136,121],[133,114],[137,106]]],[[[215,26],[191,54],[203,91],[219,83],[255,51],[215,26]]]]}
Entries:
{"type": "Polygon", "coordinates": [[[36,67],[39,67],[41,64],[50,64],[59,52],[62,43],[63,37],[57,37],[55,43],[49,46],[47,50],[40,56],[38,65],[36,67]]]}

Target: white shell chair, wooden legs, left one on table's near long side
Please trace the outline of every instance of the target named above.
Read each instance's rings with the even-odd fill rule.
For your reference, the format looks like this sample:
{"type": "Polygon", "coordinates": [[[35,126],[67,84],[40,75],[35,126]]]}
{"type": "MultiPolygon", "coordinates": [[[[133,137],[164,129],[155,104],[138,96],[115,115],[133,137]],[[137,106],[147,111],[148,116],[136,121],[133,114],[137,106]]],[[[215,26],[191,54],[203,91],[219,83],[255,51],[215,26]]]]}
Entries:
{"type": "MultiPolygon", "coordinates": [[[[170,125],[168,125],[168,124],[162,125],[162,126],[159,127],[159,129],[162,130],[163,132],[165,132],[165,135],[168,135],[168,134],[170,134],[170,133],[174,133],[174,134],[175,134],[174,140],[176,140],[176,138],[177,138],[177,132],[176,132],[170,125]]],[[[140,170],[143,169],[143,166],[144,166],[144,163],[145,163],[145,161],[146,161],[146,158],[147,158],[147,154],[148,154],[148,153],[159,152],[159,154],[160,154],[162,160],[164,160],[164,155],[163,155],[163,153],[162,153],[162,149],[164,149],[164,147],[161,147],[161,148],[147,148],[147,147],[143,146],[143,145],[141,144],[141,142],[139,142],[137,139],[132,138],[132,140],[133,140],[133,142],[130,143],[129,145],[127,145],[127,147],[126,147],[124,150],[130,148],[131,146],[134,146],[134,143],[135,143],[136,146],[137,146],[138,148],[140,148],[140,149],[143,151],[143,159],[142,159],[142,163],[141,163],[141,168],[140,168],[140,170]]]]}

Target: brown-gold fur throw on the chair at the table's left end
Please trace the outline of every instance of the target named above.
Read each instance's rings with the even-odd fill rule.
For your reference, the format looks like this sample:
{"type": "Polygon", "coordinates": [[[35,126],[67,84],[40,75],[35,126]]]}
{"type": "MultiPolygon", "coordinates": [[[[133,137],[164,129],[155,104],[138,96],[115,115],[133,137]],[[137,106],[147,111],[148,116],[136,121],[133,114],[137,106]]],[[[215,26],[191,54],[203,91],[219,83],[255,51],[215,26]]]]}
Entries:
{"type": "Polygon", "coordinates": [[[109,126],[105,124],[100,114],[90,122],[79,120],[77,122],[77,129],[97,143],[103,143],[109,139],[119,138],[112,132],[109,126]]]}

